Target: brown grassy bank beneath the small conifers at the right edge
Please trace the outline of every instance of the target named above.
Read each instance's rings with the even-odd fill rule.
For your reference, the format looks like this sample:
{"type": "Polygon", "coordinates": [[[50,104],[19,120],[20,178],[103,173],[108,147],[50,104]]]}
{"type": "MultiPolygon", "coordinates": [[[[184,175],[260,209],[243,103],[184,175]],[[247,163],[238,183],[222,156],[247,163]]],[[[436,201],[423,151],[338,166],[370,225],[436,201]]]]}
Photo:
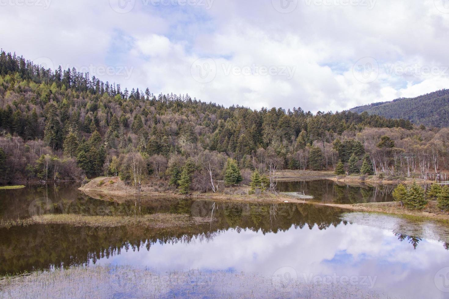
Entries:
{"type": "Polygon", "coordinates": [[[441,211],[436,206],[436,201],[431,200],[426,208],[422,211],[409,210],[401,207],[401,203],[387,202],[387,203],[365,203],[365,204],[320,204],[330,207],[343,208],[359,212],[380,212],[394,215],[401,215],[406,217],[436,219],[449,222],[449,213],[441,211]]]}

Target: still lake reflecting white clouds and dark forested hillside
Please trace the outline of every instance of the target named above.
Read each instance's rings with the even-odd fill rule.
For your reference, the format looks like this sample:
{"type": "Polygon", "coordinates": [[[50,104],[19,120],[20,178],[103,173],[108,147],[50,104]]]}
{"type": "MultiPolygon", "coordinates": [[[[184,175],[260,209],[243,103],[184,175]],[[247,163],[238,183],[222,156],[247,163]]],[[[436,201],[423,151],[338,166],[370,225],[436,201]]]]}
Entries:
{"type": "MultiPolygon", "coordinates": [[[[387,187],[373,188],[321,180],[278,183],[280,191],[304,191],[326,202],[389,200],[387,187]]],[[[211,219],[201,225],[164,228],[56,224],[1,227],[2,275],[104,266],[108,270],[103,277],[116,277],[117,269],[122,269],[122,274],[126,269],[150,269],[158,277],[167,273],[198,277],[203,273],[199,276],[207,277],[206,298],[220,297],[224,285],[226,294],[238,298],[273,294],[284,298],[358,298],[362,294],[372,296],[366,298],[449,297],[449,229],[434,221],[303,203],[238,204],[194,199],[116,202],[89,197],[70,184],[0,192],[0,219],[4,223],[42,213],[136,217],[168,213],[211,219]],[[107,268],[111,266],[116,268],[107,268]],[[247,284],[242,286],[242,281],[247,284]]],[[[75,277],[71,283],[88,286],[84,278],[75,277]]],[[[158,296],[188,297],[185,291],[192,289],[191,283],[164,289],[158,296]]],[[[198,285],[198,280],[194,284],[198,285]]],[[[118,283],[111,294],[136,297],[134,286],[123,286],[122,290],[118,283]]],[[[0,297],[8,294],[20,295],[18,290],[2,293],[0,289],[0,297]]],[[[197,289],[189,294],[192,298],[203,295],[197,289]]]]}

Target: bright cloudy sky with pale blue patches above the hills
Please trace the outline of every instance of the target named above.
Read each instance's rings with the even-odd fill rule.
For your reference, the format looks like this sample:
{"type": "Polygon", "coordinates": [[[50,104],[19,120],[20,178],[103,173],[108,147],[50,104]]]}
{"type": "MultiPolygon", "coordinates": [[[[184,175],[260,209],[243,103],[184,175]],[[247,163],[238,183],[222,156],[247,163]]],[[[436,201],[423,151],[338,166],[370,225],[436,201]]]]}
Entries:
{"type": "Polygon", "coordinates": [[[0,47],[129,90],[342,111],[449,87],[449,0],[0,0],[0,47]]]}

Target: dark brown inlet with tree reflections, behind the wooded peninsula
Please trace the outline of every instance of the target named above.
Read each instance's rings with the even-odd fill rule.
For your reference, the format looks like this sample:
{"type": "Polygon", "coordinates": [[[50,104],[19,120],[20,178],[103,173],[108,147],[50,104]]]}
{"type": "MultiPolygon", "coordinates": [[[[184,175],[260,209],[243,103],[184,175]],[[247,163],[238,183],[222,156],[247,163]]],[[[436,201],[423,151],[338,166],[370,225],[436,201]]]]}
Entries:
{"type": "Polygon", "coordinates": [[[278,182],[281,192],[303,192],[313,195],[315,200],[338,204],[392,201],[394,186],[366,184],[348,185],[331,180],[278,182]]]}

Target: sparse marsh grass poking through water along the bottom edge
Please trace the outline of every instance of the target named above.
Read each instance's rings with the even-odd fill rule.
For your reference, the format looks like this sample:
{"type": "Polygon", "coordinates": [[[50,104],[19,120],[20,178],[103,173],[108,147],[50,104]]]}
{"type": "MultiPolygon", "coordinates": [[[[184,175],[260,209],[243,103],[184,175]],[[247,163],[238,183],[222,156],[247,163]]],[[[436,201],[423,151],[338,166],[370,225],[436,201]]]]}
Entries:
{"type": "Polygon", "coordinates": [[[342,284],[287,286],[273,277],[228,271],[170,271],[130,266],[78,266],[0,280],[0,298],[384,298],[342,284]]]}

